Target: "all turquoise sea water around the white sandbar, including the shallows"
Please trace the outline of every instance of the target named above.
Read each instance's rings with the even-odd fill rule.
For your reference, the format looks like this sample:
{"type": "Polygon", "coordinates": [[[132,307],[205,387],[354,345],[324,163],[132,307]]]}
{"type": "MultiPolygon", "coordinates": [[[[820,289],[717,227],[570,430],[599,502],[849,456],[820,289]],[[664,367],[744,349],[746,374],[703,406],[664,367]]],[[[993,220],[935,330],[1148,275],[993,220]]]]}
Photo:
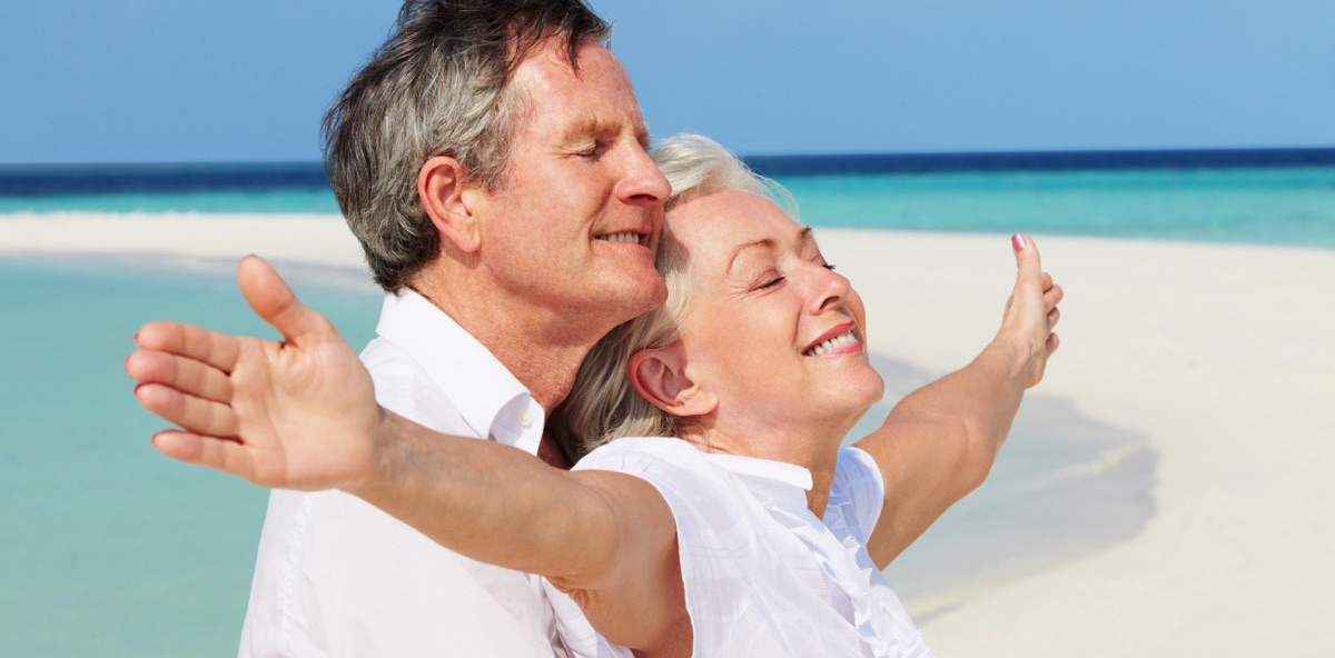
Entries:
{"type": "MultiPolygon", "coordinates": [[[[0,231],[5,214],[60,210],[336,214],[318,170],[266,167],[0,167],[0,231]]],[[[928,170],[774,174],[817,227],[1335,248],[1335,157],[1283,167],[928,170]]],[[[378,295],[318,272],[294,283],[350,342],[370,339],[378,295]]],[[[272,335],[250,316],[230,268],[0,256],[7,655],[235,651],[266,494],[150,447],[162,424],[134,402],[121,362],[134,331],[156,318],[272,335]]],[[[909,360],[877,366],[890,391],[937,375],[909,360]]],[[[892,582],[921,618],[980,583],[1123,541],[1152,511],[1153,466],[1139,436],[1035,395],[989,483],[892,566],[892,582]],[[1103,466],[1085,468],[1092,463],[1103,466]],[[1011,557],[980,565],[984,546],[1011,557]]]]}

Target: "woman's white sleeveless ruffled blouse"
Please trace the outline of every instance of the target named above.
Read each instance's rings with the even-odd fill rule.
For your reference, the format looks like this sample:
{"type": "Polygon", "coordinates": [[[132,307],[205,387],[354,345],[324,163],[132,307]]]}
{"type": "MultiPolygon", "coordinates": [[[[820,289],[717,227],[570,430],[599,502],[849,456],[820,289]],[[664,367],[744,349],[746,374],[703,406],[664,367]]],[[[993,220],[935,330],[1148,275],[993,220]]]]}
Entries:
{"type": "MultiPolygon", "coordinates": [[[[866,553],[884,499],[866,452],[840,451],[824,522],[806,507],[806,468],[681,439],[617,439],[575,468],[635,475],[668,501],[696,657],[932,657],[866,553]]],[[[630,655],[567,634],[578,610],[554,603],[571,653],[630,655]]]]}

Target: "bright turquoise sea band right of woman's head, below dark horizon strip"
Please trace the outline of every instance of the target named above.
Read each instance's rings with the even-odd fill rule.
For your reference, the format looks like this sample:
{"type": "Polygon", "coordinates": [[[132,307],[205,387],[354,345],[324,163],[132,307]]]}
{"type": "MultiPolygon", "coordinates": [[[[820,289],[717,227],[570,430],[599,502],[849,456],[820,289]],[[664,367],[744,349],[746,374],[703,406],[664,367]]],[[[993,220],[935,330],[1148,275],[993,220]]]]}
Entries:
{"type": "Polygon", "coordinates": [[[813,226],[1335,248],[1335,167],[782,179],[813,226]]]}

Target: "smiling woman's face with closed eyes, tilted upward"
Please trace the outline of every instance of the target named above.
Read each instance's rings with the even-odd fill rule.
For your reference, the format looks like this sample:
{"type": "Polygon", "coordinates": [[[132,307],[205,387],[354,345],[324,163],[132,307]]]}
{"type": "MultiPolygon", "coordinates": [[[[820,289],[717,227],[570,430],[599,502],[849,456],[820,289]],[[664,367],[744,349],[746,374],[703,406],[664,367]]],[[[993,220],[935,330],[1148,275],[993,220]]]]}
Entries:
{"type": "Polygon", "coordinates": [[[690,199],[668,226],[694,280],[681,327],[688,374],[717,396],[718,424],[773,432],[846,419],[846,431],[881,398],[862,300],[809,228],[738,191],[690,199]]]}

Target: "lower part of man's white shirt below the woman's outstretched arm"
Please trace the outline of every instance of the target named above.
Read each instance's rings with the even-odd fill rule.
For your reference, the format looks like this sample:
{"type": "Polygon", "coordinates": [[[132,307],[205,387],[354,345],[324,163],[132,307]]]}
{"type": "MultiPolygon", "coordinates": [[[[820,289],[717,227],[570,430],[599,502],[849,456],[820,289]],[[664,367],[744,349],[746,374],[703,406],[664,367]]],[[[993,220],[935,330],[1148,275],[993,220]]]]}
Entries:
{"type": "Polygon", "coordinates": [[[526,574],[454,554],[358,498],[274,491],[242,655],[550,655],[543,610],[526,574]]]}

